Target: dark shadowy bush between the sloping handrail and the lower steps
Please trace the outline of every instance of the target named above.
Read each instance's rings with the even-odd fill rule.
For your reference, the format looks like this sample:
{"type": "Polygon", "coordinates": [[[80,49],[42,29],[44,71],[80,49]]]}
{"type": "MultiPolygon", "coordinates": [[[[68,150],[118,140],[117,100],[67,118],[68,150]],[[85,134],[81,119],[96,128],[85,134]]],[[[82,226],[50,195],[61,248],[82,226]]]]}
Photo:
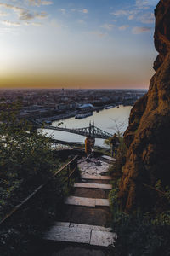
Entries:
{"type": "Polygon", "coordinates": [[[38,238],[61,214],[64,195],[65,187],[55,179],[1,225],[0,255],[35,255],[38,238]]]}

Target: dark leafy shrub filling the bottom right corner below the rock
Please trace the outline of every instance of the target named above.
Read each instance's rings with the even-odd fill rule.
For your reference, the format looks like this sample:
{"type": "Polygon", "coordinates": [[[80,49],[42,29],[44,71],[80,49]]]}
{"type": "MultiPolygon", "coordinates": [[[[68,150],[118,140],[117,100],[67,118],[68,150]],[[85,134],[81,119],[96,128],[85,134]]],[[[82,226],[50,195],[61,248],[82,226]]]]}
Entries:
{"type": "Polygon", "coordinates": [[[156,256],[169,255],[170,222],[154,223],[155,219],[144,216],[141,212],[127,215],[116,212],[112,227],[118,235],[116,251],[120,255],[156,256]]]}

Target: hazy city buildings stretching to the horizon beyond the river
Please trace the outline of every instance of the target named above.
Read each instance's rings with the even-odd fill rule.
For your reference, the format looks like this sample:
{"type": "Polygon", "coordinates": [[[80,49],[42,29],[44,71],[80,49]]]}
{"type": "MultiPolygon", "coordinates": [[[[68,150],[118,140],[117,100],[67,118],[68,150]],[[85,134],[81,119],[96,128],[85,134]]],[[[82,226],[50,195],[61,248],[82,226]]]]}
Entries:
{"type": "Polygon", "coordinates": [[[0,102],[20,101],[20,117],[64,119],[119,105],[133,106],[146,90],[0,90],[0,102]]]}

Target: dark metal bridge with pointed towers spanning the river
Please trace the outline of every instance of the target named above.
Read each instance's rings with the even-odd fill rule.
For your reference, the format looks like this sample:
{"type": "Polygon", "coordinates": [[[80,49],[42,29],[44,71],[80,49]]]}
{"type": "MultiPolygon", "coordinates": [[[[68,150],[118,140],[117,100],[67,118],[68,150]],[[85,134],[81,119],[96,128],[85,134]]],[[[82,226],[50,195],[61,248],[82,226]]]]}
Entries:
{"type": "Polygon", "coordinates": [[[88,127],[84,128],[66,128],[66,127],[59,127],[59,126],[53,126],[53,125],[47,125],[45,123],[37,122],[37,120],[34,120],[33,123],[35,125],[38,125],[39,127],[42,127],[43,129],[48,129],[48,130],[56,130],[56,131],[66,131],[78,135],[82,135],[87,137],[88,135],[95,137],[95,138],[102,138],[102,139],[107,139],[109,137],[112,137],[112,134],[106,131],[103,131],[96,127],[90,122],[88,127]]]}

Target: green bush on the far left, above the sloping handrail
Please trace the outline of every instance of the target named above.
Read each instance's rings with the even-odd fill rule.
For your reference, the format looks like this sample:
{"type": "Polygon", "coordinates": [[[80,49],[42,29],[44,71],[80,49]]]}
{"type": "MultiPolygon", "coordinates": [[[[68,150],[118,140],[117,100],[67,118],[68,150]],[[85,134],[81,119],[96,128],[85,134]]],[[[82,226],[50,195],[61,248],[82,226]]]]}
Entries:
{"type": "Polygon", "coordinates": [[[0,219],[59,166],[50,137],[18,119],[17,105],[0,113],[0,219]]]}

